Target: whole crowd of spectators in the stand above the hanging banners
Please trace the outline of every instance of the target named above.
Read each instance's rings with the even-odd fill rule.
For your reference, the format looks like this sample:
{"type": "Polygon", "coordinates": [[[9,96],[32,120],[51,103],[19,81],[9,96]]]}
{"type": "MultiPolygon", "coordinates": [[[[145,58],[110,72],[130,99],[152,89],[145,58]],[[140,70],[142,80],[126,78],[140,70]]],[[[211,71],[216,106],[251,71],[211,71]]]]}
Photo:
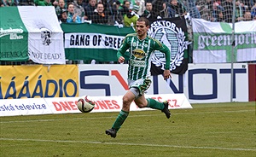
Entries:
{"type": "MultiPolygon", "coordinates": [[[[140,16],[172,18],[189,15],[232,22],[233,0],[0,0],[1,7],[54,6],[60,22],[135,26],[140,16]]],[[[236,0],[236,21],[256,20],[256,0],[236,0]]]]}

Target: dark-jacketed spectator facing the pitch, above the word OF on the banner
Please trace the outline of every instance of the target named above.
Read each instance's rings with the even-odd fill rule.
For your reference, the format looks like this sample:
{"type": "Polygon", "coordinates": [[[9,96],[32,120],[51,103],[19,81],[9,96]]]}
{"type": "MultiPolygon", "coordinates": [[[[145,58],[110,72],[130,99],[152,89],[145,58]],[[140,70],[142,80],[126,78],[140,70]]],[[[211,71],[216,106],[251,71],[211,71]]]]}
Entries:
{"type": "Polygon", "coordinates": [[[102,3],[98,3],[96,5],[96,9],[91,16],[91,22],[96,24],[107,24],[108,23],[108,15],[104,13],[104,5],[102,3]]]}

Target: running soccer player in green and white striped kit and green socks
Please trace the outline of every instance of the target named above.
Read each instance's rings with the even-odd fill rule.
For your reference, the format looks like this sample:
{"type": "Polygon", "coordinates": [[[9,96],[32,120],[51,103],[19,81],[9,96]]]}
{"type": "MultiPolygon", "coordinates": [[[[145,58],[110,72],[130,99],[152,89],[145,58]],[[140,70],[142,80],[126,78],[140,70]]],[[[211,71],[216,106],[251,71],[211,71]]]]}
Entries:
{"type": "Polygon", "coordinates": [[[137,33],[128,34],[121,47],[118,50],[117,57],[119,63],[125,61],[125,51],[130,49],[129,67],[128,67],[128,85],[129,89],[125,96],[123,96],[123,107],[119,112],[118,117],[113,123],[111,129],[105,131],[107,135],[116,137],[117,131],[127,118],[131,102],[135,102],[139,108],[154,108],[159,109],[166,114],[166,118],[169,119],[171,113],[168,109],[168,102],[157,102],[154,99],[146,99],[144,96],[145,90],[148,90],[151,80],[150,66],[151,57],[154,50],[160,50],[160,52],[166,55],[166,66],[164,71],[164,78],[172,78],[170,72],[170,49],[165,44],[161,44],[160,41],[148,36],[149,21],[145,17],[140,17],[137,20],[136,31],[137,33]]]}

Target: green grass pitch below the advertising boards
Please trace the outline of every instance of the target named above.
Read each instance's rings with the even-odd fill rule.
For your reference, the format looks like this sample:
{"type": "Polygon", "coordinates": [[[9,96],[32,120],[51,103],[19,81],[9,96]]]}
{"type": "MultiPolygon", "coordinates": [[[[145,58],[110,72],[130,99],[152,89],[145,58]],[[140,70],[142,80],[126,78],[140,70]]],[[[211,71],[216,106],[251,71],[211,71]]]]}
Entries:
{"type": "Polygon", "coordinates": [[[192,106],[131,112],[116,138],[118,113],[0,117],[0,156],[255,156],[255,102],[192,106]]]}

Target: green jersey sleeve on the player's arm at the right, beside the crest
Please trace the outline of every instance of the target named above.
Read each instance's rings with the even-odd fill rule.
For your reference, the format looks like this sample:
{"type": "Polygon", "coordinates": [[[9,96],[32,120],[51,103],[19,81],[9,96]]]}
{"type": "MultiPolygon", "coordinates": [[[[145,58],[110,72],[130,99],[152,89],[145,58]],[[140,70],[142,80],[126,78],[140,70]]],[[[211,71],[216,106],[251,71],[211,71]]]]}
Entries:
{"type": "Polygon", "coordinates": [[[166,46],[166,44],[161,44],[160,41],[154,39],[154,50],[159,50],[160,52],[164,53],[166,55],[166,65],[165,69],[169,70],[170,69],[170,62],[171,62],[171,51],[170,49],[166,46]]]}

